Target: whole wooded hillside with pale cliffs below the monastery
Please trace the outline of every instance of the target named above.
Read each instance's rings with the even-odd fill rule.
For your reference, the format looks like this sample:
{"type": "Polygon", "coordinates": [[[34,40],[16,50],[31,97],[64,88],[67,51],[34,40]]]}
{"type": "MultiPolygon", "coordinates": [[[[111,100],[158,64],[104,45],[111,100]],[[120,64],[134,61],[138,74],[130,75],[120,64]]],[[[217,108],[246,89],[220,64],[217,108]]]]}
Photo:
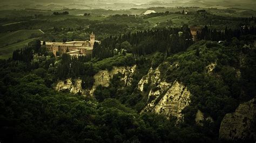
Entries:
{"type": "MultiPolygon", "coordinates": [[[[132,140],[190,142],[193,136],[197,142],[218,142],[219,137],[228,139],[222,138],[229,132],[226,128],[219,134],[220,125],[228,126],[226,114],[255,97],[255,47],[246,47],[237,38],[221,44],[202,40],[173,54],[152,52],[134,57],[120,52],[102,60],[71,59],[65,54],[55,59],[43,49],[38,51],[38,46],[33,41],[22,53],[14,52],[14,61],[1,63],[2,108],[10,108],[4,110],[3,121],[26,118],[23,124],[16,122],[21,127],[15,127],[18,134],[5,132],[3,139],[23,140],[23,132],[35,136],[44,132],[51,134],[47,138],[51,141],[76,142],[86,137],[86,141],[98,142],[119,134],[122,142],[140,134],[132,140]],[[31,50],[38,53],[31,55],[31,50]],[[9,100],[19,105],[9,105],[9,100]],[[10,110],[15,117],[8,114],[10,110]],[[47,131],[41,125],[46,120],[47,131]],[[32,126],[27,129],[28,125],[32,126]],[[33,132],[35,128],[37,132],[33,132]],[[68,137],[63,130],[70,133],[68,137]],[[83,130],[84,134],[76,135],[83,130]],[[102,135],[105,130],[114,133],[102,135]],[[91,133],[94,135],[88,136],[91,133]]],[[[253,115],[244,116],[250,116],[250,124],[254,122],[253,115]]],[[[235,140],[253,140],[232,135],[235,140]]]]}

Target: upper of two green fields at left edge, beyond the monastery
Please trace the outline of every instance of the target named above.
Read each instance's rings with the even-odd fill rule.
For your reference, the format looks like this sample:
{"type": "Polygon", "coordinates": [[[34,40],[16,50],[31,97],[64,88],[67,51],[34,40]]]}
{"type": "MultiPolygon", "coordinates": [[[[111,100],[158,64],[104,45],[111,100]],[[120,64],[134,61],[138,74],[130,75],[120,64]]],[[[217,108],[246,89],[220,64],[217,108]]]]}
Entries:
{"type": "Polygon", "coordinates": [[[10,44],[22,42],[26,39],[30,39],[31,35],[40,36],[43,32],[40,30],[19,30],[15,32],[1,33],[0,34],[0,47],[4,47],[10,44]]]}

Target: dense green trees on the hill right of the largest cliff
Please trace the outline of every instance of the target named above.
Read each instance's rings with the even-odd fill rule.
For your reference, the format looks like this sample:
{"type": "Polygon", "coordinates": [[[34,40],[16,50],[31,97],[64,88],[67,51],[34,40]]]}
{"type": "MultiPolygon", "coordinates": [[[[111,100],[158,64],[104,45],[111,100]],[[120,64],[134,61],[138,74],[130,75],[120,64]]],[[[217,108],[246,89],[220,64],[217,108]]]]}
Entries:
{"type": "MultiPolygon", "coordinates": [[[[239,76],[240,69],[244,67],[239,62],[240,52],[244,46],[242,43],[236,38],[224,44],[198,42],[186,52],[168,57],[167,61],[172,66],[162,73],[167,81],[173,82],[177,79],[186,85],[192,94],[190,106],[183,111],[185,123],[193,125],[192,120],[197,109],[201,110],[214,120],[214,125],[211,124],[209,125],[211,127],[205,128],[209,130],[206,131],[210,133],[209,135],[215,135],[214,138],[218,138],[216,134],[219,132],[220,121],[224,115],[234,112],[239,102],[252,99],[253,96],[250,93],[255,93],[255,90],[250,90],[250,93],[245,96],[241,92],[250,89],[242,86],[242,81],[247,79],[239,76]],[[217,65],[213,66],[213,71],[208,71],[207,67],[211,64],[217,65]]],[[[254,52],[251,50],[253,55],[254,52]]],[[[250,59],[254,60],[254,58],[250,56],[250,59]]],[[[248,68],[253,69],[253,66],[248,68]]],[[[255,79],[253,75],[255,72],[250,74],[251,79],[255,79]]]]}

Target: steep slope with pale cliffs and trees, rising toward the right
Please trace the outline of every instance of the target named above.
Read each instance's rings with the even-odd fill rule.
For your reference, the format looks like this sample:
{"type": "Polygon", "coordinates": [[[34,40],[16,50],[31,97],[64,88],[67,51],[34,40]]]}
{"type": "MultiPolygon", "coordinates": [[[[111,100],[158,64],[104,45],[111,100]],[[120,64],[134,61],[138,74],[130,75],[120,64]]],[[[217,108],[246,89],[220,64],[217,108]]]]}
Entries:
{"type": "MultiPolygon", "coordinates": [[[[231,132],[228,124],[239,123],[233,123],[226,114],[255,96],[255,59],[255,48],[245,47],[244,42],[235,38],[223,44],[201,41],[184,52],[141,56],[137,58],[137,65],[99,71],[93,77],[92,88],[82,93],[94,95],[99,102],[118,99],[140,115],[153,112],[169,119],[176,117],[176,124],[196,125],[216,140],[221,126],[220,138],[228,139],[225,137],[231,132]]],[[[69,92],[79,92],[79,79],[73,84],[67,83],[69,92]]],[[[64,81],[60,81],[56,89],[65,90],[63,84],[64,81]]],[[[238,122],[243,120],[235,118],[238,122]]],[[[252,122],[248,124],[252,125],[252,122]]],[[[234,125],[231,140],[249,137],[235,131],[242,126],[234,125]]],[[[247,129],[245,125],[241,132],[247,129]]]]}

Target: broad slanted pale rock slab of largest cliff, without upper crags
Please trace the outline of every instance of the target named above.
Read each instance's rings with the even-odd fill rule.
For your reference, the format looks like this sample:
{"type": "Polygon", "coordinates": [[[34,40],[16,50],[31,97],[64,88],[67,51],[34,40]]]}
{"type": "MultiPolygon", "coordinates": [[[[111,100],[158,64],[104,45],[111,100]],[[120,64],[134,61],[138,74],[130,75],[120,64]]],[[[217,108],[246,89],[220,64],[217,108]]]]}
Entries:
{"type": "Polygon", "coordinates": [[[163,81],[157,87],[159,90],[153,92],[151,89],[149,93],[149,98],[154,96],[155,99],[147,104],[142,112],[156,112],[166,117],[172,115],[177,117],[178,121],[182,120],[181,112],[191,101],[191,94],[187,88],[178,81],[174,81],[172,85],[163,81]]]}

